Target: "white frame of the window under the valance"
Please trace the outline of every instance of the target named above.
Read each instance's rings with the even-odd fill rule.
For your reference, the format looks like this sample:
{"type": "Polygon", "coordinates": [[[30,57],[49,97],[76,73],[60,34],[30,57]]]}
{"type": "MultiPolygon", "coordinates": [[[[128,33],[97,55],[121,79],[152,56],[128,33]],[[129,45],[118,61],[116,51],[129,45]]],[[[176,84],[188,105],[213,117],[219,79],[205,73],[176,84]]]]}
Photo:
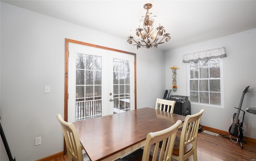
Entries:
{"type": "MultiPolygon", "coordinates": [[[[196,104],[196,105],[204,105],[204,106],[210,106],[210,107],[217,107],[217,108],[224,108],[224,80],[223,80],[223,60],[222,58],[220,59],[220,105],[214,105],[214,104],[210,104],[210,102],[208,104],[206,103],[200,103],[200,102],[191,102],[191,104],[196,104]]],[[[186,63],[186,73],[187,73],[187,96],[189,97],[190,100],[190,80],[194,80],[194,79],[190,79],[190,63],[186,63]]],[[[213,79],[199,79],[199,80],[213,80],[213,79]]],[[[198,91],[200,89],[198,88],[198,91]]],[[[209,92],[209,91],[208,91],[209,92]]]]}

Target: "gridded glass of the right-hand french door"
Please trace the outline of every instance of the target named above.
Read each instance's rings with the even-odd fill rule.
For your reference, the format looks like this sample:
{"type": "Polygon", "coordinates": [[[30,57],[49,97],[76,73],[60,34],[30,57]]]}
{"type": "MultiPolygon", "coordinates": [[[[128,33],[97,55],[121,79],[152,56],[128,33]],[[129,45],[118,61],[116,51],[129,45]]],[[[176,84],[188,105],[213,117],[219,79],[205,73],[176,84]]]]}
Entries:
{"type": "Polygon", "coordinates": [[[113,59],[113,112],[130,111],[130,61],[113,59]]]}

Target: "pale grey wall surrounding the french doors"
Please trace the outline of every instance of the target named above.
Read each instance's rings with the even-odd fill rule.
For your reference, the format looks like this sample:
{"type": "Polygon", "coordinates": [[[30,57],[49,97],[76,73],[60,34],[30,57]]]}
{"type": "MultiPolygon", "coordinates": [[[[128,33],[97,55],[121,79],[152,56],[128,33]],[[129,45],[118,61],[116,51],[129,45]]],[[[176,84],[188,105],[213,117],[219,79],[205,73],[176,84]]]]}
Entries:
{"type": "MultiPolygon", "coordinates": [[[[64,115],[64,39],[137,55],[137,108],[154,108],[165,90],[163,51],[1,3],[1,123],[13,157],[34,161],[63,151],[56,114],[64,115]],[[50,86],[50,93],[44,93],[50,86]],[[42,144],[35,146],[35,137],[42,144]]],[[[1,143],[0,160],[7,154],[1,143]]]]}

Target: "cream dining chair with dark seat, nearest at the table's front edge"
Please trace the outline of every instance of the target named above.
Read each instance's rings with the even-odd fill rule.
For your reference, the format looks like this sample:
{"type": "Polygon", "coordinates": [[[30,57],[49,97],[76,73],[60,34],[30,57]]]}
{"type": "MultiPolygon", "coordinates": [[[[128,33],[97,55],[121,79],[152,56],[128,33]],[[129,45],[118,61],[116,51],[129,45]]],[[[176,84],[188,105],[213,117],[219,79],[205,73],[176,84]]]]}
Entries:
{"type": "Polygon", "coordinates": [[[181,123],[178,120],[167,129],[148,133],[144,149],[138,149],[117,161],[171,161],[175,137],[181,123]],[[161,141],[166,146],[159,147],[161,141]]]}

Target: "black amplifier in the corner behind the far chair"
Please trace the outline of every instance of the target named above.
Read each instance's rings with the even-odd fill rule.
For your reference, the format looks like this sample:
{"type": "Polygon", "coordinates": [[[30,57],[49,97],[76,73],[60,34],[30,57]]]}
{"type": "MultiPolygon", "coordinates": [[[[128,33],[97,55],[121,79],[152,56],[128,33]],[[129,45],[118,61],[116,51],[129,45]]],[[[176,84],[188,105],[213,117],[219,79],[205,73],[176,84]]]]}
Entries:
{"type": "Polygon", "coordinates": [[[183,116],[191,115],[191,104],[190,101],[188,100],[188,96],[170,95],[165,99],[176,101],[173,110],[174,114],[179,114],[183,116]]]}

